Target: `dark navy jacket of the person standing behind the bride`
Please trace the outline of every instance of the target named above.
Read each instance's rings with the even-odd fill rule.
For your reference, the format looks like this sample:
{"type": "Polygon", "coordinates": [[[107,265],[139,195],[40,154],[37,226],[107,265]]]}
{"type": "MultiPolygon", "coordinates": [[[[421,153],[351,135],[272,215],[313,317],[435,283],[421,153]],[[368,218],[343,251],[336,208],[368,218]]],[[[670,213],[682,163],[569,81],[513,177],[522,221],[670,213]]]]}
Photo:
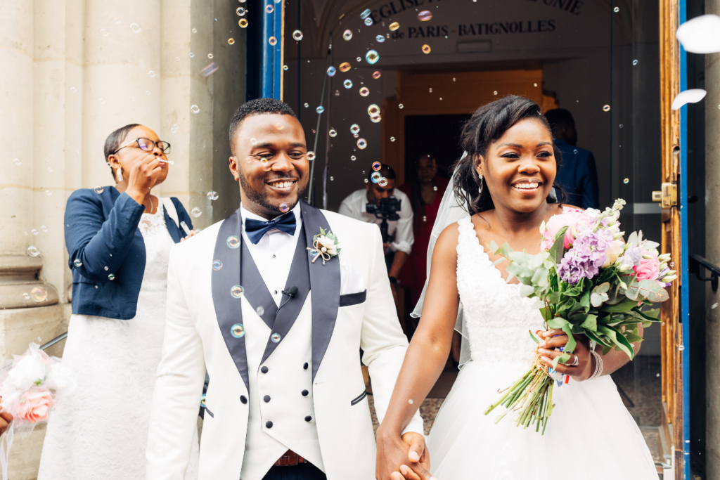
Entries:
{"type": "Polygon", "coordinates": [[[562,165],[555,182],[567,193],[565,203],[583,209],[599,209],[598,169],[593,153],[559,138],[555,139],[555,145],[562,152],[562,165]]]}

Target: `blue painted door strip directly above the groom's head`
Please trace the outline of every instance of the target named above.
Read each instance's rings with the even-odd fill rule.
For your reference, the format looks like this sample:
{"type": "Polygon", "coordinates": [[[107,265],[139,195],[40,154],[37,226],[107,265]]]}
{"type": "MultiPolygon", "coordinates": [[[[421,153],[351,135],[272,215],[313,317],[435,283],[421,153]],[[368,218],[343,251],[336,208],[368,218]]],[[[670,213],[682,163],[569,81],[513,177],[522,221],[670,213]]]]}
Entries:
{"type": "Polygon", "coordinates": [[[280,82],[282,81],[282,9],[284,2],[274,3],[266,0],[262,5],[262,75],[261,96],[280,98],[280,82]],[[266,12],[267,6],[273,6],[271,13],[266,12]],[[270,37],[275,37],[275,45],[270,45],[270,37]]]}

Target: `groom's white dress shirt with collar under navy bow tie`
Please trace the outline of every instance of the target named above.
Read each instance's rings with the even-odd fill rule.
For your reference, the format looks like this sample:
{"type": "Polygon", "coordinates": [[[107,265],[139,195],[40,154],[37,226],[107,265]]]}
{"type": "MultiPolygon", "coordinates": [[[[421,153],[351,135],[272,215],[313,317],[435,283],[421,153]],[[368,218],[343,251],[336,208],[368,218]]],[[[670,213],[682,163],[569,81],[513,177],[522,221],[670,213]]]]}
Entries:
{"type": "Polygon", "coordinates": [[[261,222],[267,222],[268,219],[249,212],[240,205],[240,216],[243,218],[243,241],[248,245],[248,250],[250,250],[250,255],[252,255],[255,265],[258,267],[260,276],[278,306],[282,301],[282,291],[285,289],[290,266],[292,266],[292,258],[297,247],[297,240],[300,236],[300,228],[302,227],[300,202],[297,202],[291,212],[295,215],[295,222],[297,222],[294,235],[289,235],[274,228],[268,230],[256,245],[250,241],[248,234],[245,232],[245,219],[251,218],[261,222]]]}

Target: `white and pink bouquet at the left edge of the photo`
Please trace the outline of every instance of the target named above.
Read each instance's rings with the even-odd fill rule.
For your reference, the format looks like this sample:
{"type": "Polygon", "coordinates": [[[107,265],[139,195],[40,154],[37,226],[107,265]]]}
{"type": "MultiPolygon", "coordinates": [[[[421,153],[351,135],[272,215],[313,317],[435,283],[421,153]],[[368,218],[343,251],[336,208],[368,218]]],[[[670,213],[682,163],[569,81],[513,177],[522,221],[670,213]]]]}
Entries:
{"type": "Polygon", "coordinates": [[[0,440],[0,463],[3,479],[7,480],[7,458],[12,446],[14,430],[27,435],[37,423],[48,420],[48,412],[57,399],[66,397],[76,389],[75,373],[63,365],[59,358],[50,357],[31,343],[27,352],[15,355],[0,370],[0,411],[8,412],[13,420],[4,440],[0,440]]]}

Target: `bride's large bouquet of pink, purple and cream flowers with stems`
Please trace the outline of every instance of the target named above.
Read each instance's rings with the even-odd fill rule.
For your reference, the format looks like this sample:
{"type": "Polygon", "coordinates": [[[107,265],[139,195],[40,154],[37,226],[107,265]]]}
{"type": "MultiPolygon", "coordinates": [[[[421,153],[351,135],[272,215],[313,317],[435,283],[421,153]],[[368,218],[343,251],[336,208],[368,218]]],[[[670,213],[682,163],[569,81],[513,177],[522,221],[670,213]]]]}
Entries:
{"type": "MultiPolygon", "coordinates": [[[[624,204],[618,199],[605,212],[564,207],[562,214],[541,225],[537,255],[490,243],[491,251],[510,260],[508,281],[517,277],[521,295],[537,299],[533,307],[540,309],[545,327],[567,334],[567,345],[554,359],[554,367],[570,360],[577,345],[573,334],[586,335],[590,345],[602,345],[603,355],[614,348],[632,359],[631,344],[642,341],[638,325],[659,321],[660,309],[647,306],[665,302],[665,287],[677,276],[668,266],[670,254],[659,255],[658,244],[643,240],[642,232],[623,240],[618,217],[624,204]]],[[[540,427],[545,432],[554,383],[562,386],[568,378],[549,368],[538,349],[531,368],[485,409],[487,415],[499,405],[505,407],[495,423],[515,412],[516,425],[526,428],[532,423],[536,432],[540,427]]]]}

